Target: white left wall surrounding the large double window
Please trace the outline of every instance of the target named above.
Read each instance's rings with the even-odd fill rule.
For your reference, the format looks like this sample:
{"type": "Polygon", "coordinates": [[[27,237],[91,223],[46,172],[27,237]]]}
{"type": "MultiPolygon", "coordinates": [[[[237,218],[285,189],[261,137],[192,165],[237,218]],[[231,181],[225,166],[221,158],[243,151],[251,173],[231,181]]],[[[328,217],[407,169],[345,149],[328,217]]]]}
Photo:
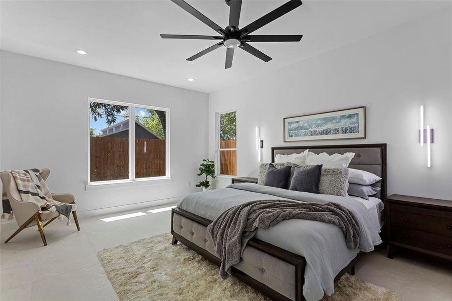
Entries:
{"type": "Polygon", "coordinates": [[[199,191],[196,173],[208,149],[206,93],[5,51],[0,59],[2,170],[50,168],[49,187],[73,193],[78,211],[199,191]],[[85,191],[88,97],[170,109],[172,182],[85,191]]]}

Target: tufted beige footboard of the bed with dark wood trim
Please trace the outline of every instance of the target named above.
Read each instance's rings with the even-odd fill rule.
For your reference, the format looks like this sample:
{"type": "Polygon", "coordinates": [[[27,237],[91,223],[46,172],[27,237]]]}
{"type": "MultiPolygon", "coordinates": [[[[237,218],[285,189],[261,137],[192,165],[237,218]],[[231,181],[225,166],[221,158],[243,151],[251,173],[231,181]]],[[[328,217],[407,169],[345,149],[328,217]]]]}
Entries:
{"type": "MultiPolygon", "coordinates": [[[[220,265],[215,255],[213,243],[207,233],[212,221],[188,211],[173,208],[171,213],[171,234],[173,244],[178,241],[220,265]]],[[[355,260],[344,268],[336,278],[340,278],[355,260]]],[[[238,264],[232,267],[232,274],[272,300],[302,301],[306,260],[303,256],[252,238],[238,264]]]]}

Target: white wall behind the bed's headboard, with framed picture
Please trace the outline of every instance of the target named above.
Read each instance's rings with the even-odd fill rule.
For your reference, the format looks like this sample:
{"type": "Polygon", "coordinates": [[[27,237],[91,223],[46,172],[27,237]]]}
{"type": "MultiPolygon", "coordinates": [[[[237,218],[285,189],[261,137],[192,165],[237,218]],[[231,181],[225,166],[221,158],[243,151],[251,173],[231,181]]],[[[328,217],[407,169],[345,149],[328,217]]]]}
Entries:
{"type": "Polygon", "coordinates": [[[264,162],[271,159],[271,146],[385,142],[388,194],[452,200],[451,27],[448,8],[211,93],[209,156],[215,157],[215,112],[236,108],[238,176],[257,176],[259,125],[264,162]],[[435,130],[430,169],[425,147],[417,144],[420,104],[435,130]],[[367,139],[282,142],[283,117],[363,105],[367,139]]]}

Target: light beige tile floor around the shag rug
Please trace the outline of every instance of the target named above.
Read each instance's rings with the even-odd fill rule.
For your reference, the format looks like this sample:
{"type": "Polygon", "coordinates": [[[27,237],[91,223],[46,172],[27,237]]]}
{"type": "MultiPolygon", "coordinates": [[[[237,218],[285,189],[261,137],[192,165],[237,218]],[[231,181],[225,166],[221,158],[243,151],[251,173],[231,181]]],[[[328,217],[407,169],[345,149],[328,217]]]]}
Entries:
{"type": "MultiPolygon", "coordinates": [[[[166,207],[160,206],[157,208],[166,207]]],[[[54,221],[45,228],[44,247],[36,227],[5,241],[16,223],[0,229],[0,300],[116,300],[96,253],[114,245],[168,233],[170,211],[149,213],[143,208],[120,214],[80,218],[81,229],[54,221]],[[104,222],[101,218],[143,212],[124,220],[104,222]]],[[[356,276],[397,291],[403,300],[452,301],[452,264],[416,253],[386,257],[379,249],[364,254],[356,276]]]]}

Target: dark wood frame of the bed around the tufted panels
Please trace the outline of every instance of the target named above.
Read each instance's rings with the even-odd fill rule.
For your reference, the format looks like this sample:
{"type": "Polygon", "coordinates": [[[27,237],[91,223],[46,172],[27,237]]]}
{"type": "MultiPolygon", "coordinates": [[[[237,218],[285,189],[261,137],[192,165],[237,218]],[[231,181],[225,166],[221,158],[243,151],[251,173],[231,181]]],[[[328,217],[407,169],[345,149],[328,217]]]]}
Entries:
{"type": "MultiPolygon", "coordinates": [[[[382,157],[382,180],[381,180],[381,200],[385,202],[386,199],[386,144],[349,144],[349,145],[314,145],[314,146],[278,146],[278,147],[272,147],[271,148],[271,161],[274,162],[274,150],[275,149],[315,149],[315,148],[348,148],[348,147],[380,147],[381,148],[381,157],[382,157]]],[[[218,257],[211,254],[209,251],[199,247],[195,243],[189,241],[188,239],[184,238],[182,235],[179,235],[173,230],[173,217],[174,214],[178,214],[180,216],[183,216],[185,218],[188,218],[200,225],[203,225],[207,227],[209,224],[212,223],[211,220],[205,219],[203,217],[200,217],[198,215],[195,215],[193,213],[190,213],[188,211],[179,209],[179,208],[173,208],[171,212],[171,234],[173,235],[172,244],[177,244],[178,241],[189,247],[190,249],[194,250],[198,254],[202,255],[209,261],[215,263],[216,265],[220,266],[221,261],[218,257]]],[[[381,231],[384,233],[383,229],[381,231]]],[[[259,251],[262,251],[264,253],[267,253],[273,257],[276,257],[282,261],[285,261],[295,267],[295,301],[305,301],[305,297],[303,296],[303,285],[305,283],[305,267],[306,267],[306,259],[303,256],[297,255],[295,253],[289,252],[287,250],[284,250],[282,248],[279,248],[277,246],[274,246],[272,244],[269,244],[267,242],[264,242],[262,240],[252,238],[249,240],[247,246],[253,247],[259,251]]],[[[344,268],[342,269],[335,277],[335,281],[339,280],[339,278],[342,277],[346,272],[350,272],[352,275],[355,274],[355,263],[357,259],[359,258],[358,255],[344,268]]],[[[277,300],[277,301],[291,301],[291,299],[287,298],[286,296],[280,294],[279,292],[273,290],[272,288],[268,287],[267,285],[257,281],[253,277],[247,275],[246,273],[238,270],[235,267],[232,267],[232,275],[234,275],[236,278],[240,279],[244,283],[248,284],[249,286],[253,287],[263,295],[267,296],[271,300],[277,300]]]]}

